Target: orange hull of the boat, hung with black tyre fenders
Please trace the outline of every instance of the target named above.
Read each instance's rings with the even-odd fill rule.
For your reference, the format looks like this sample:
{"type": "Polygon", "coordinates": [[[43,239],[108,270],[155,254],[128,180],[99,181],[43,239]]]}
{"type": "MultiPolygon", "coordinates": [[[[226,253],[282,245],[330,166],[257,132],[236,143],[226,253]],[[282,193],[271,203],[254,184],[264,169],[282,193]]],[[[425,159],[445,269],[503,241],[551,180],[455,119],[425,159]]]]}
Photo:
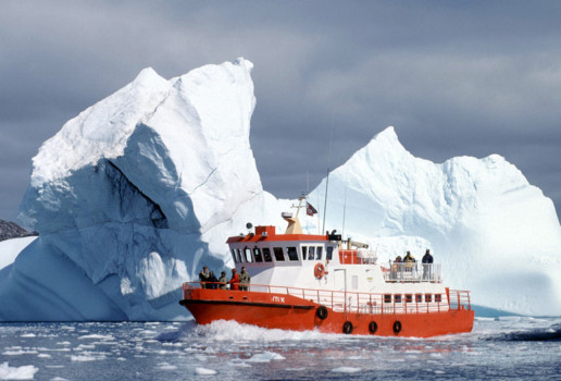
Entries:
{"type": "Polygon", "coordinates": [[[334,311],[328,307],[326,317],[321,319],[321,314],[317,314],[320,305],[310,300],[286,294],[229,290],[191,288],[185,291],[179,304],[192,314],[199,324],[235,320],[267,329],[381,336],[431,337],[471,332],[474,319],[474,311],[463,308],[384,315],[334,311]],[[372,332],[373,328],[375,332],[372,332]]]}

